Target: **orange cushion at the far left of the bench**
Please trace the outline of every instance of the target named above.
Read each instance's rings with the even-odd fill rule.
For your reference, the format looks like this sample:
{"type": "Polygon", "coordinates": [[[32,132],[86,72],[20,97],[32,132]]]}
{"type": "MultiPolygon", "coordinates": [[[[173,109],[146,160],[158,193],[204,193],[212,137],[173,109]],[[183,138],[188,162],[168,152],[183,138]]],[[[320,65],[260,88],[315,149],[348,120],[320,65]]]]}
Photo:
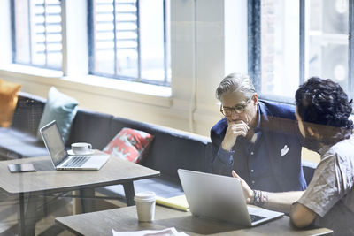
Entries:
{"type": "Polygon", "coordinates": [[[0,126],[8,127],[12,124],[20,84],[0,79],[0,126]]]}

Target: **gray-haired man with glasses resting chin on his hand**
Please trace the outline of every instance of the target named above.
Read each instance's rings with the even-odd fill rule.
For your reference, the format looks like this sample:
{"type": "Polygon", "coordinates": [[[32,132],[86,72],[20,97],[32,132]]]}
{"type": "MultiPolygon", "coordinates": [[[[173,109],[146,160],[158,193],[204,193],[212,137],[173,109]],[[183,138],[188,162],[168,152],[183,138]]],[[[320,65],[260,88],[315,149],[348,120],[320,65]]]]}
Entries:
{"type": "Polygon", "coordinates": [[[304,190],[302,136],[294,106],[258,100],[248,75],[232,73],[216,96],[224,118],[212,127],[212,172],[235,170],[253,189],[304,190]]]}

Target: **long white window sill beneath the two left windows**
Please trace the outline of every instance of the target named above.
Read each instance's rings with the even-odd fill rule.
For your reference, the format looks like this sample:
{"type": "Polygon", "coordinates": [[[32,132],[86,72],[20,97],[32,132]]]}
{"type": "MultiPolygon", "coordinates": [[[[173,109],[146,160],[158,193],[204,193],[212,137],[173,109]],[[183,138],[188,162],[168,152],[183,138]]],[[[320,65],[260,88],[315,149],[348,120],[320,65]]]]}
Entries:
{"type": "Polygon", "coordinates": [[[170,87],[115,80],[93,75],[63,76],[63,72],[60,71],[15,64],[0,68],[0,76],[139,103],[149,103],[164,107],[171,107],[172,105],[172,89],[170,87]]]}

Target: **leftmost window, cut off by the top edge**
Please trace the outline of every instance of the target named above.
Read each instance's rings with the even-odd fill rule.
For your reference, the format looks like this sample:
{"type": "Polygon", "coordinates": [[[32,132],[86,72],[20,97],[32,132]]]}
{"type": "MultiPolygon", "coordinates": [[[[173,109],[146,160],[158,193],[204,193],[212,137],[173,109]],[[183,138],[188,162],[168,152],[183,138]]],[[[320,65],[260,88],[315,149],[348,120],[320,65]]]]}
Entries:
{"type": "Polygon", "coordinates": [[[61,70],[59,0],[12,1],[12,61],[61,70]]]}

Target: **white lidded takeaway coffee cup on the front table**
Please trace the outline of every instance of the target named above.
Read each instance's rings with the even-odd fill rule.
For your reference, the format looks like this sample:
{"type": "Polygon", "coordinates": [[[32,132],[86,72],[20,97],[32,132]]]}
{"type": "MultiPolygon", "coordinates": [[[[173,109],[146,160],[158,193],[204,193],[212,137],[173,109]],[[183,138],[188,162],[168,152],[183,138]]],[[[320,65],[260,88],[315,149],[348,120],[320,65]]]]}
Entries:
{"type": "Polygon", "coordinates": [[[138,220],[151,222],[155,217],[156,194],[154,192],[142,192],[135,194],[134,201],[138,220]]]}

